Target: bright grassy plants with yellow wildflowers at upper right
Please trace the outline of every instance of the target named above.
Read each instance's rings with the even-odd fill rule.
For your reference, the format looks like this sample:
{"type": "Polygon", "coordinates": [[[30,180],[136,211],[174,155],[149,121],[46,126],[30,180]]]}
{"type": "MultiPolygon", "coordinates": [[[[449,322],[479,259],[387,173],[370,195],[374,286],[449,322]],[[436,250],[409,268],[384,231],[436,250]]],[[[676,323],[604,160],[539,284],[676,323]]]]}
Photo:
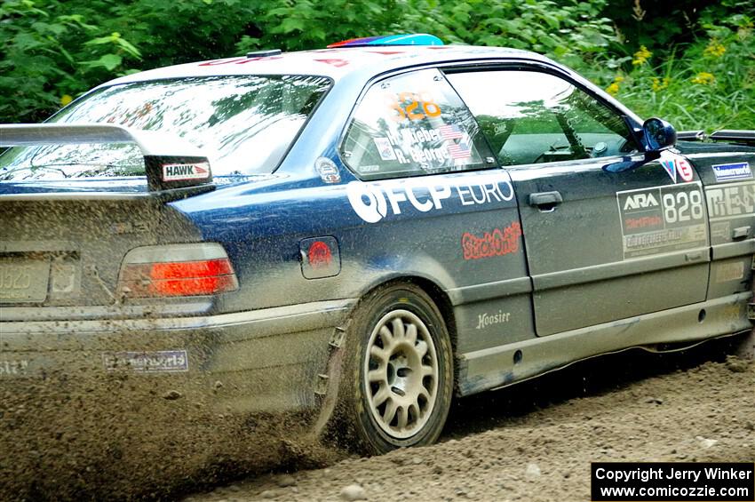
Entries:
{"type": "Polygon", "coordinates": [[[613,74],[608,67],[586,73],[640,116],[662,116],[679,130],[755,129],[753,17],[730,4],[738,13],[719,17],[722,5],[702,12],[695,39],[664,58],[653,56],[664,48],[642,46],[613,74]]]}

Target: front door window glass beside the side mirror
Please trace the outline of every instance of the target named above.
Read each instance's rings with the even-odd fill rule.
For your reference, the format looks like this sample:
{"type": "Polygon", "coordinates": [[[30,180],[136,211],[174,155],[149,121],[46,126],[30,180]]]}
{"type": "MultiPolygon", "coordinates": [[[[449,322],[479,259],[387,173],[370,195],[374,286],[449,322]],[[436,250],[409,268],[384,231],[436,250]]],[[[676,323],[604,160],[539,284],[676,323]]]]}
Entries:
{"type": "Polygon", "coordinates": [[[621,116],[574,84],[536,71],[447,75],[502,165],[637,151],[621,116]]]}

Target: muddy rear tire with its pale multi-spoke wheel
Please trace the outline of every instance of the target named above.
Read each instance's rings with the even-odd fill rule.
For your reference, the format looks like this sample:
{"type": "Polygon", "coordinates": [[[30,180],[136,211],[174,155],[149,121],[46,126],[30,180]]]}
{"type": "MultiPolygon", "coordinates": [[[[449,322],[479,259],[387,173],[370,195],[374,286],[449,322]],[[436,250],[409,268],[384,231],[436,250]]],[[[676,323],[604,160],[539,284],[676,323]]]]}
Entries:
{"type": "Polygon", "coordinates": [[[371,293],[346,334],[341,425],[362,450],[382,454],[441,435],[453,393],[449,331],[433,300],[412,284],[371,293]]]}

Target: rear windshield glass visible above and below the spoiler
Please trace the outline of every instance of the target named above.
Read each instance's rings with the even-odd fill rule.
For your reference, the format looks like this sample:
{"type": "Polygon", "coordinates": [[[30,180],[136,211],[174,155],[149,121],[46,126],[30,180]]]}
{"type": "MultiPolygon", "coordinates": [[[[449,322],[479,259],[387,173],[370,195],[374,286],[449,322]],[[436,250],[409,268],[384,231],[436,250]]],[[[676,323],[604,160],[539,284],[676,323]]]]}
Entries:
{"type": "MultiPolygon", "coordinates": [[[[215,176],[274,171],[330,87],[322,76],[211,76],[139,82],[92,93],[49,121],[167,131],[210,159],[215,176]]],[[[126,143],[14,147],[0,155],[0,181],[144,176],[126,143]]]]}

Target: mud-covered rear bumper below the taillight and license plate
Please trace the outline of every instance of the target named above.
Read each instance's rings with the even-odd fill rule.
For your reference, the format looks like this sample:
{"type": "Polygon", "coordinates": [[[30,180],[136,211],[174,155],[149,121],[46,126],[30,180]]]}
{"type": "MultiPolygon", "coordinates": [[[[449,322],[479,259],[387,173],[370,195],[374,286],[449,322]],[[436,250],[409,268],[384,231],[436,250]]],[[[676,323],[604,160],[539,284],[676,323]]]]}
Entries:
{"type": "Polygon", "coordinates": [[[88,386],[128,378],[157,396],[195,395],[223,412],[312,410],[329,342],[354,303],[195,317],[0,323],[0,386],[12,383],[23,393],[24,386],[60,378],[88,386]]]}

